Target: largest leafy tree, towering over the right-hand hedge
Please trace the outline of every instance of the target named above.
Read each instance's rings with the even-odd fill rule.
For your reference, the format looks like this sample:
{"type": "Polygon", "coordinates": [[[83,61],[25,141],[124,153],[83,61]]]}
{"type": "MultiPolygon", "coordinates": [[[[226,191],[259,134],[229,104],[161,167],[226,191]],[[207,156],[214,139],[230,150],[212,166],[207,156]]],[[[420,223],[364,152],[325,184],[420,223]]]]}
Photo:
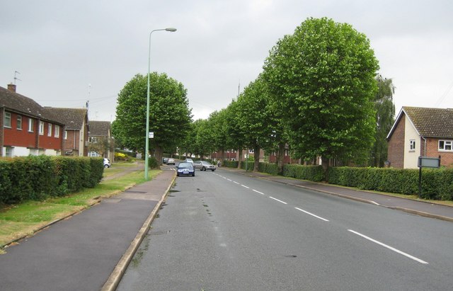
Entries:
{"type": "Polygon", "coordinates": [[[375,131],[369,40],[347,23],[309,18],[277,42],[263,78],[285,112],[289,144],[304,159],[367,156],[375,131]],[[363,154],[358,154],[363,153],[363,154]]]}

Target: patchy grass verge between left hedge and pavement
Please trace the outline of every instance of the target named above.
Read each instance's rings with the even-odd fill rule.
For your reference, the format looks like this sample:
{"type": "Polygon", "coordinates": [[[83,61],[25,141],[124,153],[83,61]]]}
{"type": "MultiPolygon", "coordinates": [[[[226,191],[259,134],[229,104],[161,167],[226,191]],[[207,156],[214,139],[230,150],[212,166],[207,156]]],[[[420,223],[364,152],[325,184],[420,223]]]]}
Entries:
{"type": "MultiPolygon", "coordinates": [[[[110,171],[104,173],[108,176],[110,171]]],[[[124,171],[120,170],[120,171],[124,171]]],[[[120,171],[115,171],[119,173],[120,171]]],[[[151,170],[149,176],[154,178],[161,171],[151,170]]],[[[19,205],[8,205],[0,208],[0,254],[1,247],[29,236],[51,222],[62,219],[84,210],[98,201],[100,197],[111,197],[139,183],[144,183],[142,170],[127,173],[115,179],[105,180],[95,188],[81,190],[61,198],[50,198],[45,201],[25,201],[19,205]]]]}

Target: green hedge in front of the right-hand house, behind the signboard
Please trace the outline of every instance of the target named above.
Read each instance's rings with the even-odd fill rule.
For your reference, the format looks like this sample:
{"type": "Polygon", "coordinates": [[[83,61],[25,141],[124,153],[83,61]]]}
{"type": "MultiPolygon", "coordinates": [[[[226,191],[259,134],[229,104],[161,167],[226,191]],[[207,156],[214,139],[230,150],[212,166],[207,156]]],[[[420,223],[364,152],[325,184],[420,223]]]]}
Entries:
{"type": "MultiPolygon", "coordinates": [[[[328,183],[415,195],[418,173],[418,169],[333,167],[328,171],[328,183]]],[[[453,200],[453,169],[423,169],[421,198],[453,200]]]]}

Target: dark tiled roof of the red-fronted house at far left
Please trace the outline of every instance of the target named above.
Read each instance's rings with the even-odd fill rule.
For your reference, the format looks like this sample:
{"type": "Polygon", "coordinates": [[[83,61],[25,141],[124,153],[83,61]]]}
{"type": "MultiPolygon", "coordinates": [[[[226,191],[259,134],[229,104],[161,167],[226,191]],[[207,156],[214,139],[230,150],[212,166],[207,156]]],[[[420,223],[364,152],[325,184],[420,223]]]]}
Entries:
{"type": "Polygon", "coordinates": [[[59,122],[54,115],[47,113],[45,108],[36,103],[33,99],[25,97],[21,94],[9,91],[0,87],[0,106],[6,110],[11,110],[16,113],[28,115],[42,120],[52,121],[54,123],[64,124],[59,122]]]}

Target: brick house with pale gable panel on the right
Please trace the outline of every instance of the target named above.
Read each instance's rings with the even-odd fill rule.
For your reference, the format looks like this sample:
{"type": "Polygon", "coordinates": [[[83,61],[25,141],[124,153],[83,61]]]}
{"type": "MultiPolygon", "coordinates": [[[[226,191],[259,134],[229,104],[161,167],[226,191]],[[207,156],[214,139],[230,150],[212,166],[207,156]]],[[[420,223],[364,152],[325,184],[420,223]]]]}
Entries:
{"type": "Polygon", "coordinates": [[[453,109],[403,107],[387,135],[387,159],[394,168],[415,169],[418,156],[453,164],[453,109]]]}

